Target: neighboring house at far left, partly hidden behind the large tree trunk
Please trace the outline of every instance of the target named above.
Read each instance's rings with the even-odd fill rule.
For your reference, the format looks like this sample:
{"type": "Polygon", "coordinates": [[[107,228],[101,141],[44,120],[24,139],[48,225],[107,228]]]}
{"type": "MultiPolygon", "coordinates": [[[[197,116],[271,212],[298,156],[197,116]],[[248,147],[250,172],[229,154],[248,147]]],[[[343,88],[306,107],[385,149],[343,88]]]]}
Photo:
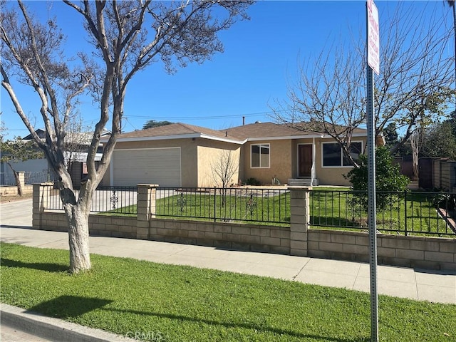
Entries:
{"type": "MultiPolygon", "coordinates": [[[[36,134],[41,140],[46,139],[46,132],[44,130],[36,130],[36,134]]],[[[90,145],[90,139],[93,133],[68,133],[68,151],[64,153],[66,162],[68,163],[68,168],[71,174],[71,179],[73,180],[73,186],[79,187],[81,185],[81,179],[86,176],[86,160],[87,160],[87,150],[88,145],[90,145]]],[[[103,131],[102,137],[107,138],[110,135],[108,130],[103,131]]],[[[24,141],[33,140],[31,134],[22,138],[24,141]]],[[[101,160],[103,153],[103,145],[98,147],[97,153],[95,155],[95,161],[101,160]]],[[[26,172],[26,177],[31,176],[31,180],[28,182],[44,182],[46,180],[54,180],[53,171],[51,170],[51,165],[48,165],[48,160],[46,158],[39,158],[33,160],[25,160],[24,162],[11,162],[14,170],[26,172]],[[39,174],[42,175],[42,177],[39,174]]],[[[11,171],[11,168],[8,165],[4,165],[4,162],[1,162],[0,165],[1,172],[1,184],[7,184],[14,182],[14,175],[11,171]]],[[[11,183],[12,184],[12,183],[11,183]]]]}

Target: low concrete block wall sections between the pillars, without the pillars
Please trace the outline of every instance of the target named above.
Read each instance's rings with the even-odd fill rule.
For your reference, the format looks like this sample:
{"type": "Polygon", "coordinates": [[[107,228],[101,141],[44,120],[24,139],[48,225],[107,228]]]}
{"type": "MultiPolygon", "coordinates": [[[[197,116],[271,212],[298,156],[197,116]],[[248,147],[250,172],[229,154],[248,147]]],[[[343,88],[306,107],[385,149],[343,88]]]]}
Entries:
{"type": "MultiPolygon", "coordinates": [[[[46,210],[35,229],[67,232],[64,212],[46,210]]],[[[136,217],[93,214],[90,235],[137,238],[136,217]]],[[[292,254],[289,227],[259,226],[177,219],[150,219],[142,239],[242,249],[254,252],[292,254]]],[[[368,262],[368,234],[309,229],[307,256],[368,262]]],[[[378,234],[378,264],[423,269],[456,270],[456,240],[435,237],[403,237],[378,234]]]]}

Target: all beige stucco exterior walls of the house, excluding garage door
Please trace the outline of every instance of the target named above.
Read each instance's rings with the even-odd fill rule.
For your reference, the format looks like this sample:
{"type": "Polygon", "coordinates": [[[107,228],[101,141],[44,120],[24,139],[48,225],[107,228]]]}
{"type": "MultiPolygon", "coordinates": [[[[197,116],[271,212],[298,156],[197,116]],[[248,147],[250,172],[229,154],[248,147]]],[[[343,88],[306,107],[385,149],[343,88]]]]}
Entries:
{"type": "MultiPolygon", "coordinates": [[[[353,141],[361,141],[366,147],[366,137],[353,137],[353,141]]],[[[299,144],[315,144],[314,167],[315,177],[321,185],[351,185],[343,175],[347,175],[352,167],[323,167],[323,142],[335,142],[331,139],[277,139],[248,141],[244,145],[203,138],[169,139],[169,140],[138,140],[131,142],[118,141],[115,150],[145,150],[153,148],[179,147],[182,187],[212,187],[215,184],[212,166],[220,160],[223,151],[231,151],[232,157],[239,165],[229,181],[237,184],[239,180],[246,182],[255,178],[264,185],[271,185],[276,177],[281,184],[290,178],[298,177],[298,146],[299,144]],[[269,166],[252,167],[252,145],[269,145],[269,166]]],[[[383,141],[378,139],[378,145],[383,141]]],[[[258,160],[257,155],[257,160],[258,160]]],[[[264,162],[264,155],[261,155],[264,162]]],[[[135,165],[131,165],[135,167],[135,165]]],[[[103,178],[103,185],[110,185],[110,169],[103,178]]]]}

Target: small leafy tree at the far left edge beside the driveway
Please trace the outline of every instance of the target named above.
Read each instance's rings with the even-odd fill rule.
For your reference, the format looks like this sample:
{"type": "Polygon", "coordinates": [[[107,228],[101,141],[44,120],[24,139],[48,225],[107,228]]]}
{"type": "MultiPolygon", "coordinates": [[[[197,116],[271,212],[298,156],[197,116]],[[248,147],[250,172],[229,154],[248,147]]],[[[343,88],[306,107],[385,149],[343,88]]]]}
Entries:
{"type": "Polygon", "coordinates": [[[13,166],[14,162],[24,162],[30,159],[42,158],[43,152],[31,141],[24,141],[17,137],[14,140],[3,141],[0,137],[1,162],[9,166],[14,175],[17,187],[17,195],[22,196],[22,185],[19,180],[19,170],[13,166]]]}

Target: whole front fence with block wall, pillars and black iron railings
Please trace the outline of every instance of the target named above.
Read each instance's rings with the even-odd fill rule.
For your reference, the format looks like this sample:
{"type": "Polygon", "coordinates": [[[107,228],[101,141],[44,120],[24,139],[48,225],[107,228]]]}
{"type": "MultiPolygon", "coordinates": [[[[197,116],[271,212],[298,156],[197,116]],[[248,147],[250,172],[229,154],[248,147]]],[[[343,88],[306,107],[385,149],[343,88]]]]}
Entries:
{"type": "MultiPolygon", "coordinates": [[[[33,185],[33,228],[66,232],[53,191],[33,185]]],[[[365,196],[301,187],[103,188],[88,223],[92,235],[368,261],[365,196]]],[[[456,269],[452,194],[379,196],[379,264],[456,269]]]]}

